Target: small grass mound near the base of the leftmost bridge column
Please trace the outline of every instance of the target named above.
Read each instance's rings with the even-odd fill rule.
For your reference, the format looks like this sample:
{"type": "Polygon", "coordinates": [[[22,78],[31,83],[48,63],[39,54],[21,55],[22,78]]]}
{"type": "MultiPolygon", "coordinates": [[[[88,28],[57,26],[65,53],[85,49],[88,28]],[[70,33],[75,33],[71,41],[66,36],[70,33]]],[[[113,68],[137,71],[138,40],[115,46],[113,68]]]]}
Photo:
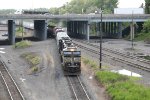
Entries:
{"type": "Polygon", "coordinates": [[[31,41],[28,41],[28,40],[23,40],[21,42],[17,42],[13,45],[13,48],[26,48],[26,47],[29,47],[31,46],[32,43],[31,41]]]}

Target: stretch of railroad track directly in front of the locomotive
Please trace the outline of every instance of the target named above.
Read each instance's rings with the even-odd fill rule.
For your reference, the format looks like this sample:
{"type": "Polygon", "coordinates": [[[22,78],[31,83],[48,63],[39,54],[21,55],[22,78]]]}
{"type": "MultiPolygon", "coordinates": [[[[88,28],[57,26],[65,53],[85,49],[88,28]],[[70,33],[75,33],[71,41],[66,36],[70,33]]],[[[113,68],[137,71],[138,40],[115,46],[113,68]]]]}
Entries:
{"type": "Polygon", "coordinates": [[[79,76],[67,76],[75,100],[91,100],[79,76]]]}

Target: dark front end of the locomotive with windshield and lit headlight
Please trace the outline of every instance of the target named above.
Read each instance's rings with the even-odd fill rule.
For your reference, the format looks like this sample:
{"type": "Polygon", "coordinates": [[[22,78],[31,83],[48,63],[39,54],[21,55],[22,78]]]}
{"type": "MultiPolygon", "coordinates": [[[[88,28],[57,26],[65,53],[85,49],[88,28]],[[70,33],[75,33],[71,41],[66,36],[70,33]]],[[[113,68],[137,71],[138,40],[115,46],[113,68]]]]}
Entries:
{"type": "Polygon", "coordinates": [[[62,51],[62,66],[65,75],[79,75],[81,73],[81,52],[76,47],[68,47],[62,51]]]}

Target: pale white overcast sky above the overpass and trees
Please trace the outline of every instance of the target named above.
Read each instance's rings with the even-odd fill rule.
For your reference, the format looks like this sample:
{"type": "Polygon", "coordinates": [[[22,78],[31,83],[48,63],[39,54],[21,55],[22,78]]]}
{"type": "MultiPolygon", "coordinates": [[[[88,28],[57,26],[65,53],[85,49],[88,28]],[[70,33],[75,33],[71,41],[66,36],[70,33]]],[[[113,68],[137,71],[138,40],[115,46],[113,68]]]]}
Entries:
{"type": "MultiPolygon", "coordinates": [[[[0,0],[0,9],[60,7],[71,0],[0,0]]],[[[138,8],[144,0],[119,0],[119,8],[138,8]]]]}

